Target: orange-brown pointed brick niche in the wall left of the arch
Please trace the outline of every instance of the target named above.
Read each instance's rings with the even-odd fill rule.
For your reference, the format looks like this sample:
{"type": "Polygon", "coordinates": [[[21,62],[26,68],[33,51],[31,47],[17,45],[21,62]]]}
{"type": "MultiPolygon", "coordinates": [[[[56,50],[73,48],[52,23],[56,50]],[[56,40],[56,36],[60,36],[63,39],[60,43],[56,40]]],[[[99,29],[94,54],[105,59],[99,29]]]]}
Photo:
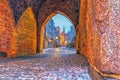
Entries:
{"type": "Polygon", "coordinates": [[[25,56],[36,53],[36,21],[29,7],[20,17],[16,30],[17,52],[16,56],[25,56]]]}

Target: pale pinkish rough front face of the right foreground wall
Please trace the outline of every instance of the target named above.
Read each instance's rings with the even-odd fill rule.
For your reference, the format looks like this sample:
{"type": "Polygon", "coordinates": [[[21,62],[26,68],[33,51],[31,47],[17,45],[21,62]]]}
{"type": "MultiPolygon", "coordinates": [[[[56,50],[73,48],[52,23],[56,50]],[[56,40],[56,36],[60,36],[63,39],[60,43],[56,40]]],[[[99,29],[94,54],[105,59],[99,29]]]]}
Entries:
{"type": "Polygon", "coordinates": [[[104,29],[100,39],[101,69],[107,73],[120,74],[120,1],[109,0],[105,5],[106,11],[101,15],[106,15],[106,18],[101,16],[105,19],[100,25],[97,23],[99,27],[103,26],[100,29],[104,29]]]}

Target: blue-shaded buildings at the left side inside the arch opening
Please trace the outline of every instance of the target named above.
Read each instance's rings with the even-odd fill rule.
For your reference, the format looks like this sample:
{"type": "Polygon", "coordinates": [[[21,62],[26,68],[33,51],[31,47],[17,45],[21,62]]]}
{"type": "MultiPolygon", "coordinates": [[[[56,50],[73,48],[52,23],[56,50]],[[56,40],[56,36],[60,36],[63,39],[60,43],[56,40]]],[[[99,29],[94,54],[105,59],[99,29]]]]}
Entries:
{"type": "Polygon", "coordinates": [[[51,19],[46,24],[44,35],[45,35],[44,42],[47,45],[47,47],[54,47],[60,44],[60,36],[59,36],[58,31],[56,30],[53,19],[51,19]],[[48,44],[46,43],[46,41],[48,44]]]}

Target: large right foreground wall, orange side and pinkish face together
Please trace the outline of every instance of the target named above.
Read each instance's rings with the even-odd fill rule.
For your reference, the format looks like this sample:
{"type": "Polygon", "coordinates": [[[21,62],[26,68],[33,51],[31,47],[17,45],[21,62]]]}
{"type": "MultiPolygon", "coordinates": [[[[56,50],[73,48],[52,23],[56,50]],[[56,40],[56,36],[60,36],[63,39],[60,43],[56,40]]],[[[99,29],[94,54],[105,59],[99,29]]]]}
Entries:
{"type": "Polygon", "coordinates": [[[119,0],[88,1],[87,37],[90,41],[87,48],[92,53],[88,52],[88,56],[105,73],[120,74],[119,4],[119,0]]]}

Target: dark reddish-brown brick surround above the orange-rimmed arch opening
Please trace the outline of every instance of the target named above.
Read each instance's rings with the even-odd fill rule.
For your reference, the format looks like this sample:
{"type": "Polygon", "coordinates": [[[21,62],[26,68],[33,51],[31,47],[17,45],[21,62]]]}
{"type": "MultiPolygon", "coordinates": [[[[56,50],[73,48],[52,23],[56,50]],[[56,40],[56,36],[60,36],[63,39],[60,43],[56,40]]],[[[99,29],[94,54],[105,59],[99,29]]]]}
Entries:
{"type": "Polygon", "coordinates": [[[37,52],[40,52],[40,28],[46,18],[56,11],[61,11],[62,13],[69,16],[72,20],[75,28],[78,25],[78,16],[79,16],[79,0],[46,0],[42,5],[40,5],[38,10],[38,19],[37,19],[37,52]]]}

